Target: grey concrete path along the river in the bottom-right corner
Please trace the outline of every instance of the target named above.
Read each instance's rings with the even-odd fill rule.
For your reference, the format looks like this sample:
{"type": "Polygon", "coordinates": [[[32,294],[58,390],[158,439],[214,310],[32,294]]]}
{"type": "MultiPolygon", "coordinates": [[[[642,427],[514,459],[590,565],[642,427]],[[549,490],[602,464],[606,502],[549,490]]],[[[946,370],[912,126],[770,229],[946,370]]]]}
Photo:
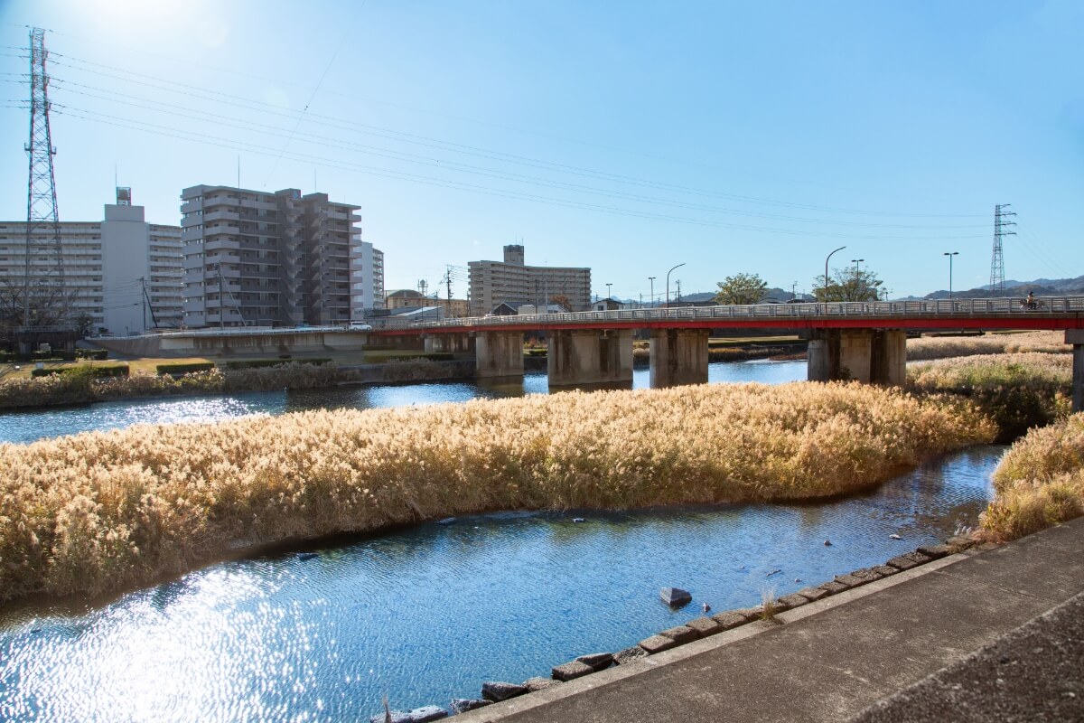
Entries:
{"type": "Polygon", "coordinates": [[[811,603],[779,615],[782,625],[737,628],[454,720],[806,722],[860,714],[865,721],[1009,720],[964,714],[959,695],[967,681],[993,676],[993,684],[976,687],[971,696],[977,711],[983,699],[1001,697],[1004,710],[1022,715],[1014,720],[1081,721],[1084,669],[1072,661],[1084,656],[1084,640],[1080,624],[1058,621],[1072,619],[1084,606],[1077,599],[1055,608],[1082,591],[1084,518],[811,603]],[[997,648],[998,642],[1010,647],[997,648]],[[1034,653],[1043,645],[1058,654],[1034,653]],[[993,647],[976,654],[988,646],[993,647]],[[1024,658],[1030,672],[1016,682],[996,670],[1020,660],[1023,671],[1024,658]],[[1010,684],[997,683],[998,677],[1010,684]],[[1020,700],[1025,693],[1034,696],[1034,705],[1020,700]],[[1051,699],[1056,706],[1042,705],[1051,699]],[[919,701],[917,708],[913,700],[919,701]],[[921,712],[932,716],[924,719],[921,712]]]}

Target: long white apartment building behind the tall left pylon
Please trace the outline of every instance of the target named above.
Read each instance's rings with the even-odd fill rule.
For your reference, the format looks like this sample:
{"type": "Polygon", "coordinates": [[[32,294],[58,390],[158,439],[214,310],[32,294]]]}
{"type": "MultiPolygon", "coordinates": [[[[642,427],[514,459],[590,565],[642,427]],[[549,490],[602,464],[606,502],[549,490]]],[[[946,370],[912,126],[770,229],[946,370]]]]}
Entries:
{"type": "MultiPolygon", "coordinates": [[[[181,324],[181,229],[147,223],[131,189],[117,189],[102,221],[62,221],[61,259],[69,318],[98,334],[141,334],[181,324]]],[[[33,269],[31,269],[33,273],[33,269]]],[[[0,283],[22,286],[26,221],[0,221],[0,283]]]]}

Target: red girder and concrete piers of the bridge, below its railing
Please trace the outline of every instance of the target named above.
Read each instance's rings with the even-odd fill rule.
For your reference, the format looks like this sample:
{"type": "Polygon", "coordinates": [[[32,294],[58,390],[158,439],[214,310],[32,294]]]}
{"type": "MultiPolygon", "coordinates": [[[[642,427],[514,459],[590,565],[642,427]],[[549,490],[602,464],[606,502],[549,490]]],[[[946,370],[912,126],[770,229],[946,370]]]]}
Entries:
{"type": "MultiPolygon", "coordinates": [[[[777,317],[615,318],[603,314],[562,314],[576,319],[456,320],[423,328],[376,330],[373,336],[427,338],[429,349],[467,350],[464,334],[476,339],[479,377],[521,376],[524,334],[546,332],[549,374],[555,387],[598,384],[627,385],[632,379],[632,332],[650,332],[651,387],[702,384],[708,380],[708,337],[712,332],[763,330],[800,333],[810,338],[811,380],[855,379],[900,386],[906,380],[908,332],[1048,330],[1064,331],[1073,345],[1073,410],[1084,411],[1084,312],[1068,313],[866,314],[808,313],[777,317]],[[442,339],[457,335],[455,340],[442,339]],[[439,340],[438,340],[439,339],[439,340]]],[[[695,314],[688,314],[695,317],[695,314]]]]}

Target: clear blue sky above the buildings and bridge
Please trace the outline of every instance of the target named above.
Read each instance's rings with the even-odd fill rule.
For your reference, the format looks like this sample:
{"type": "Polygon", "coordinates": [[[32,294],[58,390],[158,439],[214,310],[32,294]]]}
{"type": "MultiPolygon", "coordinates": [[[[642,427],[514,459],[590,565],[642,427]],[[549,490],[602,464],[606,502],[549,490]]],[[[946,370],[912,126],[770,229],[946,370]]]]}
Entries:
{"type": "MultiPolygon", "coordinates": [[[[1084,3],[0,0],[0,218],[26,214],[26,25],[47,34],[61,217],[120,185],[313,186],[362,207],[386,286],[446,264],[594,291],[865,259],[893,296],[1084,274],[1084,3]]],[[[453,294],[466,293],[462,271],[453,294]]],[[[443,288],[443,287],[441,287],[443,288]]]]}

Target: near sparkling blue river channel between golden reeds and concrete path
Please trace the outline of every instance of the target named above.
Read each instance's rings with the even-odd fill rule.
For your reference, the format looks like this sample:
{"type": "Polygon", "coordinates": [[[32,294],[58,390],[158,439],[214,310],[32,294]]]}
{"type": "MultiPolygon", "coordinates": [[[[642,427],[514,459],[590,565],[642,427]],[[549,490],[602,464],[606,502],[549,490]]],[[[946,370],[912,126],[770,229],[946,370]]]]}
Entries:
{"type": "MultiPolygon", "coordinates": [[[[544,390],[532,384],[519,393],[544,390]]],[[[423,386],[439,393],[422,401],[478,396],[472,385],[423,386]]],[[[412,390],[335,399],[418,403],[412,390]]],[[[218,403],[189,418],[221,418],[318,405],[320,393],[169,403],[218,403]]],[[[447,708],[478,697],[486,680],[547,676],[578,655],[634,645],[697,617],[701,603],[756,605],[943,540],[976,524],[1003,451],[971,448],[846,500],[464,517],[314,556],[220,563],[105,602],[9,605],[0,720],[367,720],[384,695],[393,708],[447,708]],[[694,603],[664,606],[658,591],[671,585],[694,603]]]]}

